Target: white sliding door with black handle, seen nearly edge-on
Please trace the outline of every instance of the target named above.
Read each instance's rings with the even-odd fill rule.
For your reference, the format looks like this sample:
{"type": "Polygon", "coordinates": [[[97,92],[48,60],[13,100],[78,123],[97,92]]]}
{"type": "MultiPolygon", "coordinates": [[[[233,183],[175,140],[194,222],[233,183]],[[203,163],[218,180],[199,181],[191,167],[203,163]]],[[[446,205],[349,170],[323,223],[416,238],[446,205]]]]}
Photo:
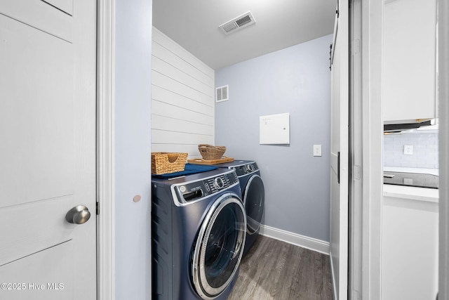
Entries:
{"type": "Polygon", "coordinates": [[[335,299],[347,299],[349,169],[349,4],[337,4],[331,53],[330,265],[335,299]]]}

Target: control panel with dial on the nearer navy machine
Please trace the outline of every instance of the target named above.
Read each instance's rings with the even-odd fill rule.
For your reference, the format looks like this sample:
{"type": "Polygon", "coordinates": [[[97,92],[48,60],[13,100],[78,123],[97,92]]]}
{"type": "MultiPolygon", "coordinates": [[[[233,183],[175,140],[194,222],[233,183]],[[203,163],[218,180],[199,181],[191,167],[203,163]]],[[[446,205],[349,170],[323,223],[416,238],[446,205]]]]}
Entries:
{"type": "Polygon", "coordinates": [[[177,199],[187,204],[208,197],[215,193],[239,184],[239,178],[234,171],[219,176],[203,178],[199,181],[191,181],[173,185],[177,199]]]}

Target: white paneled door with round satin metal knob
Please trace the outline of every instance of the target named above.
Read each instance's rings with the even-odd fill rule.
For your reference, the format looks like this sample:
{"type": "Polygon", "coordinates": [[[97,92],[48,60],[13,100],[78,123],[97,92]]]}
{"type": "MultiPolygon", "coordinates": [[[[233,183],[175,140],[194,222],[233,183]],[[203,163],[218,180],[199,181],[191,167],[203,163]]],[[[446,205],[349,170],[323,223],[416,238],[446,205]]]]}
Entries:
{"type": "Polygon", "coordinates": [[[1,0],[0,299],[96,298],[95,20],[95,1],[1,0]]]}

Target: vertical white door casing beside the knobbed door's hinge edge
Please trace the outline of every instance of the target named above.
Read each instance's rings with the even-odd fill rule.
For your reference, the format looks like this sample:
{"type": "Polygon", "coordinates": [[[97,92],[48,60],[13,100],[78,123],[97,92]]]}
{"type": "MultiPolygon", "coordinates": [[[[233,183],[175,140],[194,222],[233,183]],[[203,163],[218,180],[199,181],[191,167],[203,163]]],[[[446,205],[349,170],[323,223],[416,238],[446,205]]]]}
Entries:
{"type": "Polygon", "coordinates": [[[114,11],[115,2],[98,1],[97,217],[99,300],[115,299],[114,241],[114,11]]]}

